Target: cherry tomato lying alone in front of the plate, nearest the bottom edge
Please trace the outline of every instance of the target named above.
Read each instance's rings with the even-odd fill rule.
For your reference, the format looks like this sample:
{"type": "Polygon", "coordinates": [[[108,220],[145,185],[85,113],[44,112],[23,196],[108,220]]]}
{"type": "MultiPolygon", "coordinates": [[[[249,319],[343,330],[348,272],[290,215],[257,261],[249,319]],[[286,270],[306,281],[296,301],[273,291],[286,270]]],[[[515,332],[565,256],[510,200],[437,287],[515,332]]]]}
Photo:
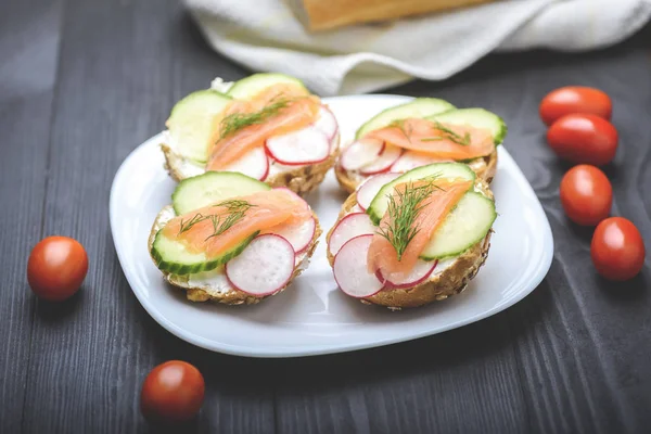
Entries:
{"type": "Polygon", "coordinates": [[[180,360],[166,361],[144,379],[140,409],[151,421],[187,421],[199,412],[204,392],[199,369],[180,360]]]}

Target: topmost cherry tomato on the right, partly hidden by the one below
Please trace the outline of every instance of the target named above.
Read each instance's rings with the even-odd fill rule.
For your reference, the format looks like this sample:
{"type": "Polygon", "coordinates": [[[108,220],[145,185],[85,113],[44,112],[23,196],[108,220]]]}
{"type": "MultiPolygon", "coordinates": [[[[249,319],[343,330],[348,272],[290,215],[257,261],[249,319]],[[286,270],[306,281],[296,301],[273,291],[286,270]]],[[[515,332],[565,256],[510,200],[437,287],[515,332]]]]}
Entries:
{"type": "Polygon", "coordinates": [[[549,92],[540,102],[540,118],[547,125],[571,113],[591,113],[610,120],[613,103],[605,92],[582,86],[567,86],[549,92]]]}

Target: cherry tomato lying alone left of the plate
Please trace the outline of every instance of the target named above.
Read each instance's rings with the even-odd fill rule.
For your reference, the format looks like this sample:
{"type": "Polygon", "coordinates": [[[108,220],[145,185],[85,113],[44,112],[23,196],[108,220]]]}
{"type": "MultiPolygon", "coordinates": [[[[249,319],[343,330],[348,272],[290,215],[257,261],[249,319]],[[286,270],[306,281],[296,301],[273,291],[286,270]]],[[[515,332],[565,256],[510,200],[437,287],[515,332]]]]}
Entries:
{"type": "Polygon", "coordinates": [[[62,302],[74,295],[88,271],[88,255],[77,240],[48,237],[38,242],[27,261],[27,281],[41,298],[62,302]]]}

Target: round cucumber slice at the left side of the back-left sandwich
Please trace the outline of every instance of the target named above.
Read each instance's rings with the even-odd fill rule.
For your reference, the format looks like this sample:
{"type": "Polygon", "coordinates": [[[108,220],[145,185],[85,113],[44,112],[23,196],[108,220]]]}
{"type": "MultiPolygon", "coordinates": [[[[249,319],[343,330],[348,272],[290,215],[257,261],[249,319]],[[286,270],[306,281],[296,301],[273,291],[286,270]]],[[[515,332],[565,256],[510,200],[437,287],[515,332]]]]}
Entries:
{"type": "Polygon", "coordinates": [[[205,163],[219,125],[216,117],[224,112],[230,97],[216,90],[190,93],[171,108],[167,128],[179,154],[205,163]]]}

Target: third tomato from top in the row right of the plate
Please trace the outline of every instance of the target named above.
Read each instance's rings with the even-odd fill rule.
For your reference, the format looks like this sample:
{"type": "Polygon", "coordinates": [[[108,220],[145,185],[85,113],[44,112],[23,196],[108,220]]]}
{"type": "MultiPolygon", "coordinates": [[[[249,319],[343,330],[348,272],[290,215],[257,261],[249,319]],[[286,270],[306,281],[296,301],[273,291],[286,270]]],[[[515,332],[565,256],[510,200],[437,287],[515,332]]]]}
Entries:
{"type": "Polygon", "coordinates": [[[561,204],[570,220],[595,226],[608,217],[613,203],[610,181],[595,166],[572,167],[561,180],[561,204]]]}

